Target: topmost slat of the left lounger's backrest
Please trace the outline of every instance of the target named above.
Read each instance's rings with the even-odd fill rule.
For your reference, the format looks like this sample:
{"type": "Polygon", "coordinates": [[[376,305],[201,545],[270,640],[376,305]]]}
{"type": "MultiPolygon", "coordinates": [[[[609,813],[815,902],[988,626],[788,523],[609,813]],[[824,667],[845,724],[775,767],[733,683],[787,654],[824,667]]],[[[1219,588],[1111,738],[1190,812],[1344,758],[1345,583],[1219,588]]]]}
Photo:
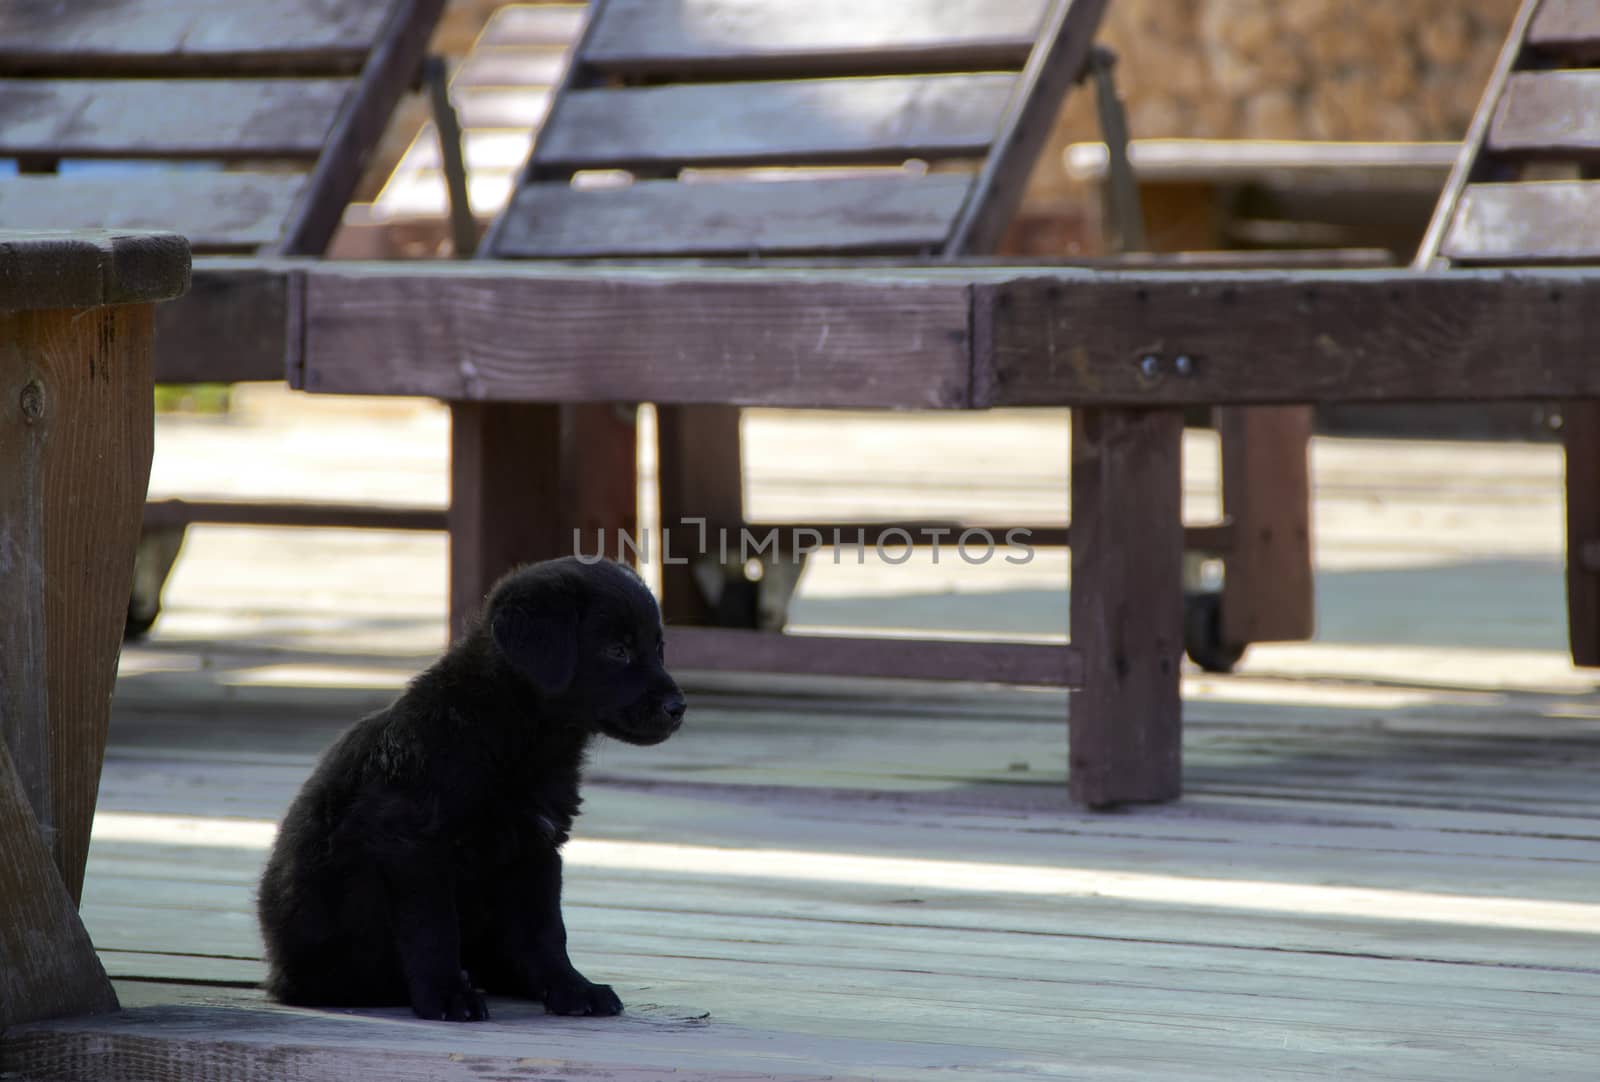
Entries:
{"type": "Polygon", "coordinates": [[[370,0],[10,0],[0,72],[355,72],[392,5],[370,0]]]}

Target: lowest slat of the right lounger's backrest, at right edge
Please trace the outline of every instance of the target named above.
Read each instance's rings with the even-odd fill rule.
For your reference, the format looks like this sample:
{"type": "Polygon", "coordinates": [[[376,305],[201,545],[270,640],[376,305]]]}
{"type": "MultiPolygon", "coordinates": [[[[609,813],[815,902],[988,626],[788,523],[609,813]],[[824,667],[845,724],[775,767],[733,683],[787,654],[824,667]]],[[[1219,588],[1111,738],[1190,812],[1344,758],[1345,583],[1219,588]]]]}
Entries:
{"type": "Polygon", "coordinates": [[[1472,184],[1443,254],[1458,262],[1600,259],[1600,181],[1472,184]]]}

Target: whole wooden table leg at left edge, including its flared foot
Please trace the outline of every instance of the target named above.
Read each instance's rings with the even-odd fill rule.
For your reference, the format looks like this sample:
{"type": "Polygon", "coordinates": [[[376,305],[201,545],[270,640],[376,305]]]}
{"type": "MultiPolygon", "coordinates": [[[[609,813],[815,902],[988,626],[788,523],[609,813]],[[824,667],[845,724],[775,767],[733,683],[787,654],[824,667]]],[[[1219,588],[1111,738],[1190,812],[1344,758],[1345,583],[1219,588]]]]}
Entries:
{"type": "Polygon", "coordinates": [[[77,914],[154,440],[152,306],[0,314],[0,1026],[115,1010],[77,914]]]}

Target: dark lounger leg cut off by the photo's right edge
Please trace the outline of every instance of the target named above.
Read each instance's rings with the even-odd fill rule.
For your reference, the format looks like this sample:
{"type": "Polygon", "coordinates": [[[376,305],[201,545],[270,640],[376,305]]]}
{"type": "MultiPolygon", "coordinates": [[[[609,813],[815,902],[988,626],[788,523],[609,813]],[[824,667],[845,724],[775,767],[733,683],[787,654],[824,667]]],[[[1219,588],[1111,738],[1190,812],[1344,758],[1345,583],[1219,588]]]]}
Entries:
{"type": "Polygon", "coordinates": [[[1568,402],[1566,623],[1573,664],[1600,667],[1600,400],[1568,402]]]}

